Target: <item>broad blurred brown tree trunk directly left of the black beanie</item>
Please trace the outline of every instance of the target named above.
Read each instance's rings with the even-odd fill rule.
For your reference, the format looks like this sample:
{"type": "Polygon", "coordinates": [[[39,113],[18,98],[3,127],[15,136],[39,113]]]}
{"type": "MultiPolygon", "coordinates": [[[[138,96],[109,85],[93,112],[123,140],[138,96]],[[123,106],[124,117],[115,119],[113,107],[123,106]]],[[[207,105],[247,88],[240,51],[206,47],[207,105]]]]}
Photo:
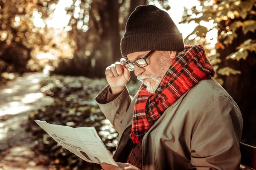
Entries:
{"type": "Polygon", "coordinates": [[[102,23],[102,35],[95,54],[96,77],[105,77],[107,66],[119,61],[120,34],[119,34],[119,3],[116,0],[108,0],[104,11],[99,11],[102,23]]]}

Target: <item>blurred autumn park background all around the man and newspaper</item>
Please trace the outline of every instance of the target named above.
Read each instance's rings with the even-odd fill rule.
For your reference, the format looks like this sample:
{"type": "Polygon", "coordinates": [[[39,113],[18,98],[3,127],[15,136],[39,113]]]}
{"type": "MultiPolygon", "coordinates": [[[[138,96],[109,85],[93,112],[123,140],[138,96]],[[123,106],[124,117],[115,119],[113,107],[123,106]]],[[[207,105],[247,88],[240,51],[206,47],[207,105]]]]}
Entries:
{"type": "Polygon", "coordinates": [[[94,126],[114,153],[118,133],[94,98],[121,58],[129,15],[145,4],[166,10],[186,45],[204,45],[215,81],[243,115],[242,142],[256,146],[256,0],[0,0],[0,170],[101,169],[34,120],[94,126]]]}

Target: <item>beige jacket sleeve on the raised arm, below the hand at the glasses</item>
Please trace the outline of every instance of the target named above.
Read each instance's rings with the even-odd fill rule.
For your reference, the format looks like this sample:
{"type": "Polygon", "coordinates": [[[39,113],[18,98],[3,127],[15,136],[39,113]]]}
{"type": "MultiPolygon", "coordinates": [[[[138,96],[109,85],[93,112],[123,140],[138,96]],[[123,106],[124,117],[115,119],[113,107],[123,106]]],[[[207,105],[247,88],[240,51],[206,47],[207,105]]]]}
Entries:
{"type": "Polygon", "coordinates": [[[107,119],[111,122],[113,127],[119,133],[121,128],[122,119],[131,103],[131,97],[129,96],[129,91],[125,86],[119,96],[112,96],[113,100],[110,98],[109,85],[106,86],[95,98],[99,108],[102,110],[107,119]],[[111,101],[111,100],[112,101],[111,101]]]}

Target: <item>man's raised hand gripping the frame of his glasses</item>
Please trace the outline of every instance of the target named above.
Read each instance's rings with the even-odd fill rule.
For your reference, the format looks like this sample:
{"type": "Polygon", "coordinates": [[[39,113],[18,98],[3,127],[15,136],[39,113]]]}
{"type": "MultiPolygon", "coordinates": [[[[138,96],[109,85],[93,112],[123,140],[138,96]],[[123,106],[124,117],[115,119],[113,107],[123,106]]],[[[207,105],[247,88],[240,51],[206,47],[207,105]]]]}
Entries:
{"type": "Polygon", "coordinates": [[[120,62],[115,62],[106,68],[105,75],[112,94],[118,94],[123,91],[131,77],[130,71],[123,66],[125,62],[126,60],[122,58],[120,62]]]}

